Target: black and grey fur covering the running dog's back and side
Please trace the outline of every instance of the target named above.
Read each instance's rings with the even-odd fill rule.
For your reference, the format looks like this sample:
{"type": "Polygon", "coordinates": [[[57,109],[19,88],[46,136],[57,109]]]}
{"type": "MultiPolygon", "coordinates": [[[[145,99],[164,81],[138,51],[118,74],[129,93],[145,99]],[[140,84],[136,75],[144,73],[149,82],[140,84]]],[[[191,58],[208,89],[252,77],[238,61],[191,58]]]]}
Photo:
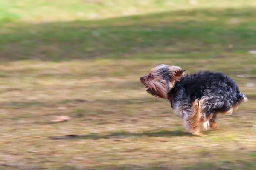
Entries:
{"type": "Polygon", "coordinates": [[[203,111],[207,117],[217,112],[228,111],[246,98],[233,79],[223,73],[209,71],[182,77],[169,91],[168,97],[170,96],[174,108],[187,108],[188,111],[195,99],[207,96],[207,107],[203,111]]]}

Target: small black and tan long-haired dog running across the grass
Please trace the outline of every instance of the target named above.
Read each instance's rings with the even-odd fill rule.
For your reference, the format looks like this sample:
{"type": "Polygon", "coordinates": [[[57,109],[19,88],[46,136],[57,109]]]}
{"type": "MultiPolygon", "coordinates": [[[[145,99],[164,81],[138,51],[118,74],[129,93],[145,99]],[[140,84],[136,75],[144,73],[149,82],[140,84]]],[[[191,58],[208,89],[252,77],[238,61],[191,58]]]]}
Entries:
{"type": "Polygon", "coordinates": [[[248,101],[236,82],[223,73],[199,71],[188,75],[185,71],[161,64],[140,77],[140,82],[149,94],[168,100],[183,119],[186,131],[194,136],[203,136],[201,127],[218,130],[219,113],[232,114],[241,102],[248,101]]]}

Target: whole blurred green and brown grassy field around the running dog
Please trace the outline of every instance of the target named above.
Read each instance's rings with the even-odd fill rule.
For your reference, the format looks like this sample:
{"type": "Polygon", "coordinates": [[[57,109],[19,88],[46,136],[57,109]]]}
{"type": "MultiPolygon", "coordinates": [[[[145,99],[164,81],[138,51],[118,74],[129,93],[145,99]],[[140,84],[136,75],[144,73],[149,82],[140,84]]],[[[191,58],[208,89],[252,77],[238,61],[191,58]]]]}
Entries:
{"type": "Polygon", "coordinates": [[[0,170],[256,169],[255,16],[255,0],[0,0],[0,170]],[[162,63],[221,71],[249,102],[191,136],[140,83],[162,63]]]}

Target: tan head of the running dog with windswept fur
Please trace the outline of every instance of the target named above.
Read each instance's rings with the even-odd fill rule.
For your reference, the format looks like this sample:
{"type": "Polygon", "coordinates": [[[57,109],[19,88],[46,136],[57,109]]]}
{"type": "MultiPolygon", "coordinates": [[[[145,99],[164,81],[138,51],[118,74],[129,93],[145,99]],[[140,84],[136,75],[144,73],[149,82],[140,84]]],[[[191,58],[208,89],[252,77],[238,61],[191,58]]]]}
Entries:
{"type": "Polygon", "coordinates": [[[152,68],[148,75],[140,77],[140,82],[149,94],[167,99],[168,91],[184,76],[184,71],[179,66],[161,64],[152,68]]]}

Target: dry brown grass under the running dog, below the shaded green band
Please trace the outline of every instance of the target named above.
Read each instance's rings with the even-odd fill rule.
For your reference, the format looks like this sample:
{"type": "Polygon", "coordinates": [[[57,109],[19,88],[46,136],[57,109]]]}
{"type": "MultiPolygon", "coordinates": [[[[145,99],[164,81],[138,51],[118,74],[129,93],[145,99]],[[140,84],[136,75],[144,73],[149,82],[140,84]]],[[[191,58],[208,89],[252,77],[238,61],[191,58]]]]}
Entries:
{"type": "Polygon", "coordinates": [[[255,93],[245,86],[246,77],[238,83],[250,100],[233,113],[238,116],[220,116],[220,130],[195,137],[185,132],[168,102],[149,96],[140,84],[137,73],[147,73],[156,62],[148,61],[147,66],[132,60],[100,63],[13,62],[0,66],[1,167],[255,167],[255,93]],[[72,119],[50,121],[58,115],[72,119]],[[157,129],[159,126],[170,128],[157,129]],[[72,134],[83,136],[49,138],[72,134]]]}

